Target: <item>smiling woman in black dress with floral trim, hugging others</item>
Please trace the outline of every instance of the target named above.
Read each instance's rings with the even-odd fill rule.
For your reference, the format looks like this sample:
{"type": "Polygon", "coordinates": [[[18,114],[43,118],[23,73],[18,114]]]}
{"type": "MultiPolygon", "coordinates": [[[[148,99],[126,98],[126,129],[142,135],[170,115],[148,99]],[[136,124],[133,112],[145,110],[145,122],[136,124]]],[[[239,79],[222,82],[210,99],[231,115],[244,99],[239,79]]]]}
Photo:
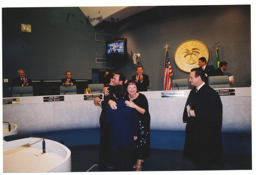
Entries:
{"type": "Polygon", "coordinates": [[[150,113],[148,110],[148,99],[145,95],[137,92],[136,81],[128,80],[128,100],[126,105],[135,108],[139,113],[138,138],[135,140],[134,156],[137,160],[133,167],[141,171],[142,162],[150,155],[150,113]]]}

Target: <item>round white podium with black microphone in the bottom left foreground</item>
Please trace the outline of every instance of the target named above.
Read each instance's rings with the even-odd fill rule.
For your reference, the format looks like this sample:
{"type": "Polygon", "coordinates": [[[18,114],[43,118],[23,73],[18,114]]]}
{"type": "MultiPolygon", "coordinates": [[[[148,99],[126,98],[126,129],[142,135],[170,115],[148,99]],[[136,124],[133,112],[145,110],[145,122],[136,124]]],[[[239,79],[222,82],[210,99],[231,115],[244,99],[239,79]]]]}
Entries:
{"type": "Polygon", "coordinates": [[[3,172],[71,172],[71,151],[61,143],[42,138],[3,140],[3,172]]]}

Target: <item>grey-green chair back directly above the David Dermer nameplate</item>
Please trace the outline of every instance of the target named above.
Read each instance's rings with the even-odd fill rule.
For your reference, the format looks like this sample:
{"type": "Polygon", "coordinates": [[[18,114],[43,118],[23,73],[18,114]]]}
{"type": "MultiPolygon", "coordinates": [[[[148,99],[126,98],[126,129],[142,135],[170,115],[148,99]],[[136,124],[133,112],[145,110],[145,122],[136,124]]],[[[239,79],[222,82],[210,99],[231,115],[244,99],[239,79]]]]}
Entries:
{"type": "Polygon", "coordinates": [[[208,84],[211,88],[230,88],[228,76],[209,76],[208,84]]]}

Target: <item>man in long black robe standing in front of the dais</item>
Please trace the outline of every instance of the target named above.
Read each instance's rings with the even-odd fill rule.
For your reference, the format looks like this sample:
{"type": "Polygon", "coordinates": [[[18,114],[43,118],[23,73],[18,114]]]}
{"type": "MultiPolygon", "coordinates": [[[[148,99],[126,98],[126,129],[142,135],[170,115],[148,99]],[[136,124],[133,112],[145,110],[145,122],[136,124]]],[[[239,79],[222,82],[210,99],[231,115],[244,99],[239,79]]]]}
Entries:
{"type": "Polygon", "coordinates": [[[189,82],[195,88],[190,91],[183,112],[183,123],[187,123],[184,158],[191,160],[197,170],[211,170],[213,164],[223,166],[222,103],[204,78],[202,69],[191,69],[189,82]]]}

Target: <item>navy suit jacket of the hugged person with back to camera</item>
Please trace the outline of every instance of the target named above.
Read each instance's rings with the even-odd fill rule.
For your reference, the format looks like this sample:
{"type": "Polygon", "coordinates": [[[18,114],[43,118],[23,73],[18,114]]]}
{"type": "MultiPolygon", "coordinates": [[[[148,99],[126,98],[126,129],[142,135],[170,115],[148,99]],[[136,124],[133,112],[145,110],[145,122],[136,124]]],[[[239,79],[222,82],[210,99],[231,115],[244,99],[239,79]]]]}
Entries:
{"type": "Polygon", "coordinates": [[[111,146],[131,145],[134,143],[133,136],[138,132],[138,112],[125,104],[125,98],[116,100],[118,108],[106,109],[106,123],[110,124],[111,146]]]}

